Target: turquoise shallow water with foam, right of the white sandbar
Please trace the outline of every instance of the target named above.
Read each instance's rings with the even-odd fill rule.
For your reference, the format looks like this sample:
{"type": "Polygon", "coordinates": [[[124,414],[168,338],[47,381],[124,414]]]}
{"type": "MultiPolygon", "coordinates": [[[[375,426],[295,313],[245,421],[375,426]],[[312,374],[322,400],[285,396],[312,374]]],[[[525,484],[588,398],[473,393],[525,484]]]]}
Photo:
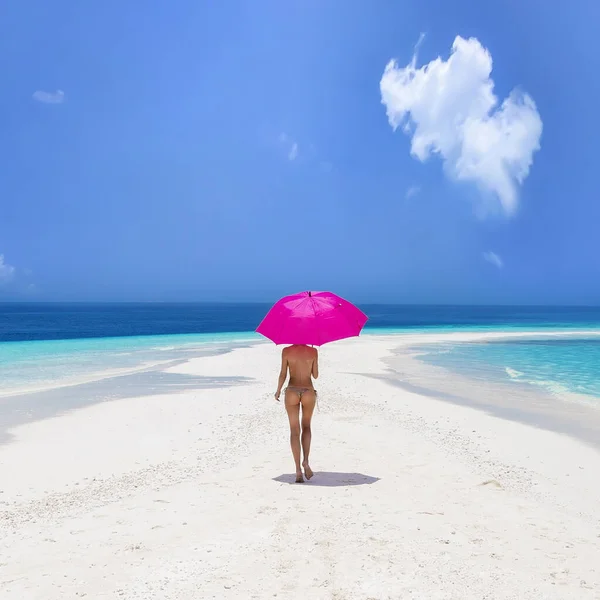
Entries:
{"type": "Polygon", "coordinates": [[[420,360],[476,379],[600,399],[600,337],[593,335],[445,343],[422,350],[420,360]]]}

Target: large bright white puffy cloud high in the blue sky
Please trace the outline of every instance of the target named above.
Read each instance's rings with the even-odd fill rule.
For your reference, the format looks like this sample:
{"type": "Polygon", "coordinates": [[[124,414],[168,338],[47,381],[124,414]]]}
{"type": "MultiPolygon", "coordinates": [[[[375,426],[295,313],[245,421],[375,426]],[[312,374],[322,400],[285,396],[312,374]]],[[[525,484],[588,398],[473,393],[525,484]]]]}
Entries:
{"type": "Polygon", "coordinates": [[[450,177],[476,184],[482,208],[499,204],[514,214],[540,148],[542,120],[533,99],[513,90],[498,106],[492,57],[476,38],[458,36],[448,60],[421,68],[416,62],[415,54],[406,67],[395,60],[385,67],[380,90],[390,125],[411,136],[414,157],[438,154],[450,177]]]}

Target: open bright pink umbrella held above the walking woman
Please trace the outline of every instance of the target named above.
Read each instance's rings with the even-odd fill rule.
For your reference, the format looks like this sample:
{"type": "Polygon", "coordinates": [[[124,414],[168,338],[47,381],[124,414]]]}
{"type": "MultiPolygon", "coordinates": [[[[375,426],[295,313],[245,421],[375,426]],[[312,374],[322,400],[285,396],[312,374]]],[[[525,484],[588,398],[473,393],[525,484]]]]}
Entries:
{"type": "Polygon", "coordinates": [[[359,335],[366,322],[367,315],[331,292],[301,292],[276,302],[256,331],[276,344],[321,346],[359,335]]]}

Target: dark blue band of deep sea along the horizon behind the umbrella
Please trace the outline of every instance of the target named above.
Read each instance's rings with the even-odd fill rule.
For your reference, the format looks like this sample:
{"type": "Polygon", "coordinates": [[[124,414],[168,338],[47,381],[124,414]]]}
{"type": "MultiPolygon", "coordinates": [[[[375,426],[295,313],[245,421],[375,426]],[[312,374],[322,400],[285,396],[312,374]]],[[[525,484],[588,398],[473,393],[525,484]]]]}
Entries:
{"type": "MultiPolygon", "coordinates": [[[[259,302],[0,302],[0,343],[254,332],[259,302]]],[[[365,331],[600,328],[600,306],[358,304],[365,331]]]]}

